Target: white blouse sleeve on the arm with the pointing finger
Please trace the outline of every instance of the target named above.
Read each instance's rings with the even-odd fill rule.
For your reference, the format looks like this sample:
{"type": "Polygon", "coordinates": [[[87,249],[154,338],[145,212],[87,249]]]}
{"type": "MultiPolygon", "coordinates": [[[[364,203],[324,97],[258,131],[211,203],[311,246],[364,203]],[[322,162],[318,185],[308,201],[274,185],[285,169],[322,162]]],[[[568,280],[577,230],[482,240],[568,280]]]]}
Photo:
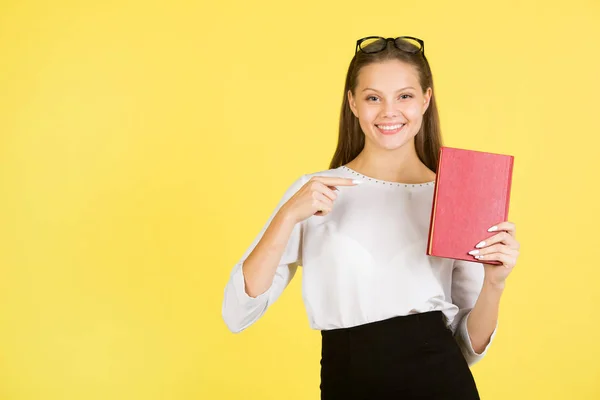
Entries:
{"type": "Polygon", "coordinates": [[[290,239],[288,240],[279,261],[279,265],[277,266],[271,286],[264,293],[256,297],[251,297],[246,292],[242,271],[243,263],[264,235],[281,206],[283,206],[307,180],[306,176],[303,175],[288,187],[259,234],[254,238],[252,244],[247,248],[241,259],[239,259],[231,271],[229,281],[225,286],[225,295],[221,313],[225,324],[233,333],[239,333],[255,323],[267,311],[267,308],[281,295],[294,277],[298,265],[302,264],[300,248],[302,224],[298,223],[294,226],[290,239]]]}

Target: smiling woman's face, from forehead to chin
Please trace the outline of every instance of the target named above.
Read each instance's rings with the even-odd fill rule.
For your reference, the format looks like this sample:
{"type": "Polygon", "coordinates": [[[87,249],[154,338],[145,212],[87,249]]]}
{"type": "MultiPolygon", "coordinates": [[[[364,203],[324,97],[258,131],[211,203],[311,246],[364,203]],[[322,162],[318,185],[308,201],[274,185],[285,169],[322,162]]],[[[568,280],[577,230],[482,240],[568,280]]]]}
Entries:
{"type": "Polygon", "coordinates": [[[394,150],[412,140],[431,93],[431,88],[423,93],[418,72],[410,64],[393,60],[363,67],[355,94],[349,90],[348,100],[365,133],[365,147],[394,150]]]}

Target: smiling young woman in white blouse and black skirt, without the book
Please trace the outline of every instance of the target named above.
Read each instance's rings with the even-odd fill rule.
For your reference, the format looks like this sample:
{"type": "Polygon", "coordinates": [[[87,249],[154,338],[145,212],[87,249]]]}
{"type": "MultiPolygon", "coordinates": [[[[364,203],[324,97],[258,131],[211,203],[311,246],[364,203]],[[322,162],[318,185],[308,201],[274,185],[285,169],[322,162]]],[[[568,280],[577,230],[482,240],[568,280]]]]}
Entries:
{"type": "Polygon", "coordinates": [[[423,41],[358,40],[330,169],[288,188],[233,268],[222,312],[240,332],[303,266],[322,399],[479,398],[469,366],[496,333],[519,243],[498,221],[473,262],[425,254],[438,121],[423,41]]]}

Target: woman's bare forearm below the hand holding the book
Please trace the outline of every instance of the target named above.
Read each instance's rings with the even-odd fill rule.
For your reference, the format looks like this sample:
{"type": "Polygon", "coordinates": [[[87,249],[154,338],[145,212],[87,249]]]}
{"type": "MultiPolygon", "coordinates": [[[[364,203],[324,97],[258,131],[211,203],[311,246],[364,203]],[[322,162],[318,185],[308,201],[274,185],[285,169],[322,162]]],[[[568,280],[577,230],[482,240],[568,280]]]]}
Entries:
{"type": "Polygon", "coordinates": [[[504,285],[496,285],[484,281],[481,293],[467,320],[467,331],[471,338],[473,350],[481,353],[489,344],[490,337],[498,323],[500,297],[504,285]]]}

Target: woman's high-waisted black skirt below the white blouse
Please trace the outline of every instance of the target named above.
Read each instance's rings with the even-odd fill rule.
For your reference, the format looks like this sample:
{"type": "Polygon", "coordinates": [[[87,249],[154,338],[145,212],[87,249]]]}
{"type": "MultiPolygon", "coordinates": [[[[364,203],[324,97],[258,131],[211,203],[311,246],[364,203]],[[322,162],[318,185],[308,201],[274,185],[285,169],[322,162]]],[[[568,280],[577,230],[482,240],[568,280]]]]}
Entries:
{"type": "Polygon", "coordinates": [[[479,399],[441,311],[321,336],[321,399],[479,399]]]}

